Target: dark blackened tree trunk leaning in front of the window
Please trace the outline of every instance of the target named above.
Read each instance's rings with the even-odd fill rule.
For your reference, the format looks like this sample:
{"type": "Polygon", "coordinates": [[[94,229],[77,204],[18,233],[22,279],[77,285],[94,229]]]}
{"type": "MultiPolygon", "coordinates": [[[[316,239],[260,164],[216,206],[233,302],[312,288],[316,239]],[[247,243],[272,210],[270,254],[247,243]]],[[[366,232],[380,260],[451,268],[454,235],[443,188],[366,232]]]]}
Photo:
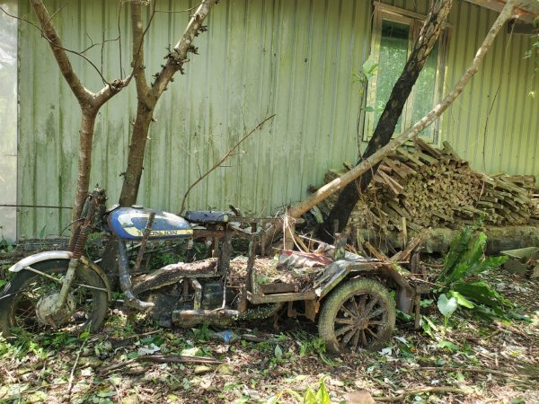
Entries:
{"type": "MultiPolygon", "coordinates": [[[[446,22],[452,4],[453,0],[437,0],[432,4],[427,20],[423,28],[421,28],[420,38],[416,42],[404,66],[402,75],[393,86],[393,91],[385,104],[384,112],[382,112],[375,132],[368,142],[367,149],[361,156],[358,164],[384,145],[387,145],[391,140],[397,121],[401,117],[404,103],[408,99],[413,84],[417,81],[421,69],[425,66],[427,57],[429,57],[432,48],[434,48],[444,28],[444,23],[446,22]]],[[[339,231],[342,231],[346,224],[348,224],[349,216],[354,206],[358,203],[359,192],[367,189],[368,184],[376,174],[377,168],[378,163],[371,170],[365,172],[359,180],[350,183],[340,192],[337,203],[333,206],[330,215],[321,227],[319,236],[323,240],[331,241],[335,221],[339,222],[339,231]]]]}

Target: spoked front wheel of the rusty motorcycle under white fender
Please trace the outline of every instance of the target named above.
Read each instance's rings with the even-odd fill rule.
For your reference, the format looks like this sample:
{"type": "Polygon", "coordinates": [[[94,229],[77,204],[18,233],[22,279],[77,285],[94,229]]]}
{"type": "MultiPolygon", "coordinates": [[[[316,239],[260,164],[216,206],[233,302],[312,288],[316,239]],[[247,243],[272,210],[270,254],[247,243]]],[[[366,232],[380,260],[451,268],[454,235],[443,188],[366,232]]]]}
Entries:
{"type": "Polygon", "coordinates": [[[79,333],[99,329],[107,314],[107,286],[92,268],[80,265],[64,307],[50,314],[59,294],[61,277],[69,259],[54,259],[32,265],[40,272],[22,269],[0,294],[0,331],[4,337],[13,332],[32,334],[47,329],[79,333]]]}

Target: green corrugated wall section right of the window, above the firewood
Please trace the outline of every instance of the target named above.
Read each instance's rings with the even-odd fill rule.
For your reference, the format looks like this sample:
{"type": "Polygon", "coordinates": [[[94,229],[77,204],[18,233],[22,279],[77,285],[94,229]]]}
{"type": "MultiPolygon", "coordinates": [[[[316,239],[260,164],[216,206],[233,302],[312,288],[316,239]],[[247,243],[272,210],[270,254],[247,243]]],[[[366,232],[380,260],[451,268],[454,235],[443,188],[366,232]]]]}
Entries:
{"type": "MultiPolygon", "coordinates": [[[[463,75],[497,16],[474,4],[455,3],[447,90],[463,75]]],[[[524,58],[531,47],[529,36],[508,34],[504,28],[477,75],[446,111],[442,137],[475,170],[539,173],[539,100],[528,95],[539,91],[539,77],[534,74],[535,60],[524,58]]]]}

